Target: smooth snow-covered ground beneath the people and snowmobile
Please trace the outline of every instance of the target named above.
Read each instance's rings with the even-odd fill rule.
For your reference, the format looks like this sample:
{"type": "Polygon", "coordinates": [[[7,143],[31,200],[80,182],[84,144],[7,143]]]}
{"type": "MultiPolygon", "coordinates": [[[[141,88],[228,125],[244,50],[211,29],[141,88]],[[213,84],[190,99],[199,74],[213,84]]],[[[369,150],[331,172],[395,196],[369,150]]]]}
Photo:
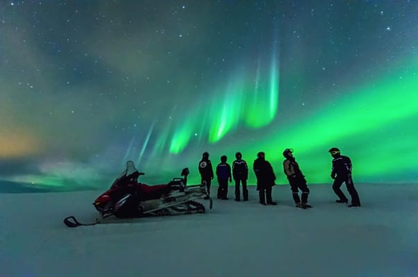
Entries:
{"type": "Polygon", "coordinates": [[[63,218],[94,220],[101,191],[3,194],[0,276],[418,276],[418,185],[356,188],[360,208],[336,204],[330,185],[310,186],[309,210],[288,186],[274,187],[278,206],[254,187],[234,202],[230,187],[203,215],[74,229],[63,218]]]}

